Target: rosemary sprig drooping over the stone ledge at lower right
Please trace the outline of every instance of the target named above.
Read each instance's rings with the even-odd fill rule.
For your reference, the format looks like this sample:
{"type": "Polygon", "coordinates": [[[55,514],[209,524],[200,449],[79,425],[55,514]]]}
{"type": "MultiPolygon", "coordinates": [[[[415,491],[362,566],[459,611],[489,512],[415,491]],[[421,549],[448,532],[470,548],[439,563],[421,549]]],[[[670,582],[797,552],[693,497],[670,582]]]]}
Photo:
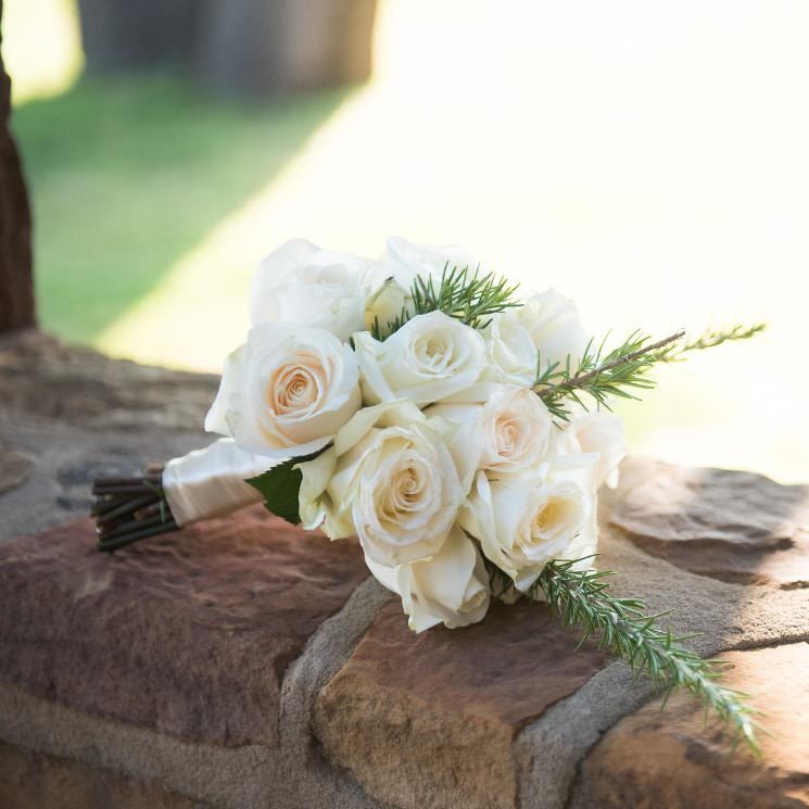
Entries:
{"type": "MultiPolygon", "coordinates": [[[[637,675],[648,674],[663,686],[663,707],[674,688],[685,688],[712,710],[734,735],[754,753],[755,709],[746,694],[718,682],[720,660],[706,660],[682,645],[693,635],[678,636],[658,624],[660,616],[647,615],[640,598],[618,598],[605,581],[611,570],[574,570],[576,561],[553,561],[545,566],[529,596],[544,595],[548,607],[567,627],[583,631],[581,643],[598,637],[599,648],[625,660],[637,675]]],[[[665,615],[665,614],[663,614],[665,615]]]]}

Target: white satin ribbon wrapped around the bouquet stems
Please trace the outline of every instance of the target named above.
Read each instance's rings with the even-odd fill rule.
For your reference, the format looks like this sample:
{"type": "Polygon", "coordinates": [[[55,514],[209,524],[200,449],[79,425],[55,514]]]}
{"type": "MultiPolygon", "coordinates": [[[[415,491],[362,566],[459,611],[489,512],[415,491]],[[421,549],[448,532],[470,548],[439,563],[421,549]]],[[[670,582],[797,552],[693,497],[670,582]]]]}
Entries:
{"type": "Polygon", "coordinates": [[[163,470],[163,491],[175,521],[186,526],[261,502],[262,495],[245,479],[281,463],[244,452],[232,439],[219,439],[169,460],[163,470]]]}

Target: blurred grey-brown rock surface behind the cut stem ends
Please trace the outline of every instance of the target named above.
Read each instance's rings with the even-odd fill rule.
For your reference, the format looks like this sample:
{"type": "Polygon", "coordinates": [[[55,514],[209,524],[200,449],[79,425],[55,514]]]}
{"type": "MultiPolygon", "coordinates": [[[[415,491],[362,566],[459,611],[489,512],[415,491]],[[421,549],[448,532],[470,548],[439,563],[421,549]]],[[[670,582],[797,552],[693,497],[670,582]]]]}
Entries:
{"type": "Polygon", "coordinates": [[[0,501],[0,542],[86,514],[98,475],[131,475],[210,443],[201,427],[217,385],[36,332],[0,337],[0,457],[29,462],[0,501]]]}

